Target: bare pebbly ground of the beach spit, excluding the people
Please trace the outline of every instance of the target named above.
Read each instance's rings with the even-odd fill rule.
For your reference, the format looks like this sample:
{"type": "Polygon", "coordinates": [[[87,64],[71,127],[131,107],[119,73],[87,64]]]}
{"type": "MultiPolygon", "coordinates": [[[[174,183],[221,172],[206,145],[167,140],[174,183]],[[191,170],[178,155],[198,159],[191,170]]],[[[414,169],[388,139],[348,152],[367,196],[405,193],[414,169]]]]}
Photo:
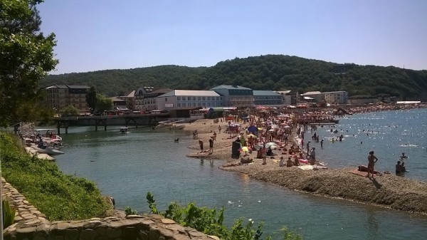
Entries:
{"type": "MultiPolygon", "coordinates": [[[[248,157],[254,160],[250,165],[236,165],[240,160],[231,157],[231,144],[236,137],[230,137],[223,132],[226,125],[227,122],[214,122],[211,119],[186,123],[184,130],[189,132],[197,130],[199,133],[198,137],[194,137],[194,144],[189,145],[187,156],[205,160],[222,160],[223,165],[219,167],[220,169],[248,174],[252,179],[297,192],[427,214],[427,183],[398,177],[394,173],[382,174],[373,179],[359,175],[366,172],[352,173],[355,171],[352,168],[303,170],[296,166],[279,167],[278,158],[283,156],[287,159],[288,155],[268,157],[267,164],[262,165],[263,160],[255,158],[256,152],[248,154],[248,157]],[[222,128],[221,133],[218,131],[219,125],[222,128]],[[208,155],[209,138],[214,135],[214,131],[217,134],[214,152],[208,155]],[[199,140],[204,142],[206,152],[201,152],[199,140]]],[[[248,127],[247,123],[242,125],[243,130],[246,127],[248,127]]],[[[293,137],[295,135],[292,133],[291,140],[293,137]]]]}

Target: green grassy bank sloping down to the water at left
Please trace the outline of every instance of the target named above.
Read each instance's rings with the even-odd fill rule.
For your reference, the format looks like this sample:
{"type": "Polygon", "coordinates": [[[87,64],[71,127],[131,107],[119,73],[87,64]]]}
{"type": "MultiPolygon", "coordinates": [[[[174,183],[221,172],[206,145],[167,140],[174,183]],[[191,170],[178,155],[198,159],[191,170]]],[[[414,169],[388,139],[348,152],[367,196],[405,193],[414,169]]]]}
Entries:
{"type": "Polygon", "coordinates": [[[0,137],[2,176],[49,220],[102,217],[111,208],[93,182],[27,155],[13,135],[0,132],[0,137]]]}

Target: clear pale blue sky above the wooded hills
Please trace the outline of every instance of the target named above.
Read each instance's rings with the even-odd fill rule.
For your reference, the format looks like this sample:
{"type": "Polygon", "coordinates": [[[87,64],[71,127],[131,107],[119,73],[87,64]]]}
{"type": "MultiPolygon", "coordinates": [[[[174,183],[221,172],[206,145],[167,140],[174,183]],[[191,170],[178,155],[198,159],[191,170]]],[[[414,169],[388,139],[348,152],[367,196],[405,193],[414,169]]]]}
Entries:
{"type": "Polygon", "coordinates": [[[426,0],[45,0],[58,73],[284,54],[427,69],[426,0]]]}

